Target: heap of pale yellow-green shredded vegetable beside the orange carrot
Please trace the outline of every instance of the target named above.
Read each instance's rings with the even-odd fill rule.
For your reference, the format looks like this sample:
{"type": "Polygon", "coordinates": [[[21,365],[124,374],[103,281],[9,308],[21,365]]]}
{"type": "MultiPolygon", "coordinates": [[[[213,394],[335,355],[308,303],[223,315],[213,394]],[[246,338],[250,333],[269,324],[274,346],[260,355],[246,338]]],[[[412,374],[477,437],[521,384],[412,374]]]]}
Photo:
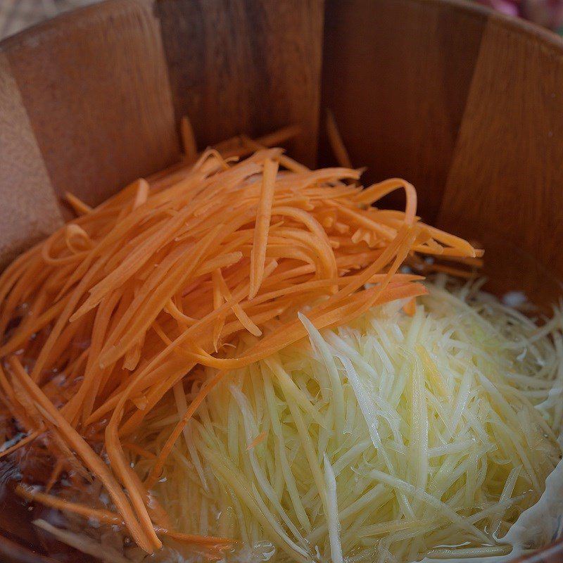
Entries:
{"type": "MultiPolygon", "coordinates": [[[[448,283],[412,317],[395,302],[319,332],[303,312],[308,341],[229,374],[158,483],[172,524],[238,538],[229,561],[249,562],[496,559],[530,547],[530,513],[555,521],[532,547],[550,541],[538,500],[562,455],[562,312],[536,324],[448,283]]],[[[164,443],[181,391],[144,447],[164,443]]]]}

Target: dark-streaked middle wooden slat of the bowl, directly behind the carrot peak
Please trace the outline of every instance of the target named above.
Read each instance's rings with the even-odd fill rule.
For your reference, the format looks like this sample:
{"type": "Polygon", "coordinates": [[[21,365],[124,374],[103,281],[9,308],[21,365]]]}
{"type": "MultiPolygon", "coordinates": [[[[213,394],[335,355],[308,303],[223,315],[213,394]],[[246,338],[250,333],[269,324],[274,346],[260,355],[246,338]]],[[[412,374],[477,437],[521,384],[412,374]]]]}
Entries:
{"type": "Polygon", "coordinates": [[[293,156],[315,162],[322,0],[159,0],[176,117],[199,148],[298,123],[293,156]]]}

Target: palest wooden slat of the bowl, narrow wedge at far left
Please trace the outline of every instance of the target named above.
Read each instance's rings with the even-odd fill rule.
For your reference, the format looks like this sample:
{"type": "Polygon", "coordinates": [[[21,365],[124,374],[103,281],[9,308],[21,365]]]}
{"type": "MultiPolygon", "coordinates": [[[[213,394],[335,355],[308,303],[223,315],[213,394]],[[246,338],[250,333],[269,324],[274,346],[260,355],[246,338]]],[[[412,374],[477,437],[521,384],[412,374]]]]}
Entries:
{"type": "Polygon", "coordinates": [[[18,87],[0,52],[0,268],[61,222],[18,87]]]}

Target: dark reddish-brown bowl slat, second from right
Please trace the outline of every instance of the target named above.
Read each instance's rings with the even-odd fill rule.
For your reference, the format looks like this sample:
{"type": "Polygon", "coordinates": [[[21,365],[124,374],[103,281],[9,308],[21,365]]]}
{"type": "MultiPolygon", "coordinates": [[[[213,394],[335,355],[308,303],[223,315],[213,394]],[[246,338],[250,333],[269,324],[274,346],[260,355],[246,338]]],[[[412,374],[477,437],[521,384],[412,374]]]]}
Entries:
{"type": "MultiPolygon", "coordinates": [[[[365,182],[405,177],[425,220],[441,201],[486,18],[454,2],[327,1],[322,105],[353,165],[367,165],[365,182]]],[[[326,144],[323,154],[330,162],[326,144]]]]}

